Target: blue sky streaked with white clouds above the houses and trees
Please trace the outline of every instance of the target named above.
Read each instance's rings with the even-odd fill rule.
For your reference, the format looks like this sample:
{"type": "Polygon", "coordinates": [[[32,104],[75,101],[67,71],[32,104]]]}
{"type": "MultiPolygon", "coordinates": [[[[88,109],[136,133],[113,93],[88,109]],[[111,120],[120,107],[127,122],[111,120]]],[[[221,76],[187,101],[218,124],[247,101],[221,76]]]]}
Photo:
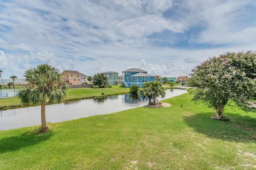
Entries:
{"type": "Polygon", "coordinates": [[[242,50],[256,50],[255,0],[0,0],[3,78],[44,63],[182,76],[242,50]]]}

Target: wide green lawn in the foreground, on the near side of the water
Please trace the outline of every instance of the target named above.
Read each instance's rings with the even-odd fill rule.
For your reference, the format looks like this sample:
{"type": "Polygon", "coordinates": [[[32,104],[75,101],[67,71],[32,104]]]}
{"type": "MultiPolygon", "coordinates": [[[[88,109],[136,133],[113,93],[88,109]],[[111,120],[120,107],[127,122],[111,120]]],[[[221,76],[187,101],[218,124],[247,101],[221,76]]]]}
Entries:
{"type": "Polygon", "coordinates": [[[48,124],[44,134],[38,126],[0,131],[0,169],[255,169],[256,113],[226,107],[231,120],[218,121],[190,100],[48,124]]]}

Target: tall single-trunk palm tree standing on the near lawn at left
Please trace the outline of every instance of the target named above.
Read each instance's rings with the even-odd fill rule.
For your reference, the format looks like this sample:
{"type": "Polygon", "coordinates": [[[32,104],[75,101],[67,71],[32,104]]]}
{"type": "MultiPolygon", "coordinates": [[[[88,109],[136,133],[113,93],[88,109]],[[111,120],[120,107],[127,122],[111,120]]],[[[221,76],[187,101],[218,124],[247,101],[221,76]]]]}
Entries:
{"type": "Polygon", "coordinates": [[[45,105],[60,103],[66,97],[68,84],[62,79],[60,71],[48,64],[41,64],[36,68],[30,68],[24,74],[26,87],[18,92],[22,104],[41,105],[41,132],[49,128],[46,125],[45,105]]]}

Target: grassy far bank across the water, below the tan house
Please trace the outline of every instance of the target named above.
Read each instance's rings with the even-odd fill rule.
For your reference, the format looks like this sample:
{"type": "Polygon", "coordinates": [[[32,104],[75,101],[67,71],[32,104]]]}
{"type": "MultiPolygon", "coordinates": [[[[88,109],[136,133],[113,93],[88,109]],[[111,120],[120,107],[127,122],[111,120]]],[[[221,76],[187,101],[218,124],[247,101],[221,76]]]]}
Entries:
{"type": "MultiPolygon", "coordinates": [[[[69,88],[64,102],[127,94],[129,91],[130,88],[120,87],[120,85],[112,86],[112,88],[69,88]]],[[[0,110],[12,109],[15,107],[22,107],[19,98],[6,98],[0,100],[0,110]]]]}

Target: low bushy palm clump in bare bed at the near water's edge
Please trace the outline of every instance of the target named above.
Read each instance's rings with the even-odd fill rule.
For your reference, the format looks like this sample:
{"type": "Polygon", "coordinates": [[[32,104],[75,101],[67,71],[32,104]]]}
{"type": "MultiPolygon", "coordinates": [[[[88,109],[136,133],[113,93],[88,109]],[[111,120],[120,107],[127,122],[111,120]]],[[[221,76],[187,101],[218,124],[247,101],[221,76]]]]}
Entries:
{"type": "Polygon", "coordinates": [[[142,90],[140,90],[140,96],[143,98],[148,97],[148,104],[156,104],[156,98],[165,96],[165,90],[161,83],[158,82],[148,82],[142,85],[142,90]],[[153,99],[153,102],[151,100],[153,99]]]}

